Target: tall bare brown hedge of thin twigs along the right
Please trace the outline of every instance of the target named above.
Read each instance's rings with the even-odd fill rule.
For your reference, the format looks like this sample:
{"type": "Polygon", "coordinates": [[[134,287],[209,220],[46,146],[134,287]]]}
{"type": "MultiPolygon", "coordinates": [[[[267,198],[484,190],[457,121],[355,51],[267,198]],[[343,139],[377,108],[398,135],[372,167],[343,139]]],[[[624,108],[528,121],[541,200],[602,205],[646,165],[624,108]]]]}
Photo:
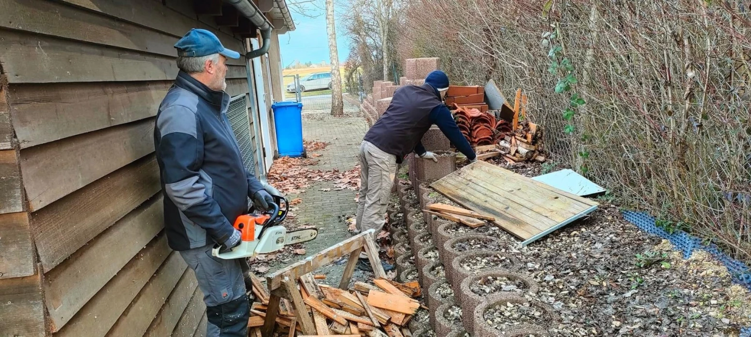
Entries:
{"type": "Polygon", "coordinates": [[[522,88],[556,161],[607,186],[623,206],[751,260],[743,2],[417,0],[405,22],[402,59],[440,57],[454,82],[492,78],[507,96],[522,88]],[[556,93],[567,71],[550,65],[563,58],[576,83],[556,93]],[[567,121],[574,93],[586,104],[567,121]]]}

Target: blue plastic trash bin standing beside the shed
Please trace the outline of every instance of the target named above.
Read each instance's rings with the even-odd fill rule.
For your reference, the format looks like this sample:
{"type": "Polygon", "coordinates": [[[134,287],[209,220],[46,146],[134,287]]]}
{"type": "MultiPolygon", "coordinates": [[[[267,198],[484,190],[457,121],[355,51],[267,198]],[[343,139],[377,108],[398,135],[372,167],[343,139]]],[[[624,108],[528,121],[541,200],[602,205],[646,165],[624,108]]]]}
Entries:
{"type": "Polygon", "coordinates": [[[297,102],[276,102],[271,104],[276,128],[276,150],[279,157],[301,157],[303,146],[303,104],[297,102]]]}

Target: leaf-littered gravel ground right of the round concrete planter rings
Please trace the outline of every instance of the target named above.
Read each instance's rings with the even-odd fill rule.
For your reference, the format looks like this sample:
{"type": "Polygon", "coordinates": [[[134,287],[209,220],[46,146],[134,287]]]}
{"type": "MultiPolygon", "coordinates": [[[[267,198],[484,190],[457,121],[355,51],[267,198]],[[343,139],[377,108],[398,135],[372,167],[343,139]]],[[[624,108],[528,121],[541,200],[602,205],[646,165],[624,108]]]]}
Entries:
{"type": "Polygon", "coordinates": [[[553,307],[551,335],[737,336],[751,325],[751,295],[721,263],[703,251],[683,260],[669,242],[623,220],[616,205],[598,201],[589,218],[524,248],[498,235],[540,286],[529,301],[553,307]]]}

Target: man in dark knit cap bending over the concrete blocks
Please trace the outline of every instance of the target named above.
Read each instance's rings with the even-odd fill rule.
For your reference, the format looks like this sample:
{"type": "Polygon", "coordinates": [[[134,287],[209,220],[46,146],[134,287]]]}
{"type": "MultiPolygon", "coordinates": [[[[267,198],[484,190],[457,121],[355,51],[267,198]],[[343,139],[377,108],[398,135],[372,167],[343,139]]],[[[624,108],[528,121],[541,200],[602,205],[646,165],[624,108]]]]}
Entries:
{"type": "MultiPolygon", "coordinates": [[[[360,204],[357,206],[357,230],[380,233],[385,224],[391,185],[397,164],[415,152],[420,158],[438,161],[433,152],[420,143],[432,125],[438,125],[459,152],[469,161],[477,156],[464,138],[448,107],[443,104],[448,91],[448,76],[433,71],[422,86],[403,86],[394,92],[386,112],[365,134],[360,145],[360,204]]],[[[387,263],[384,269],[394,269],[387,263]]],[[[370,270],[365,254],[360,254],[358,268],[370,270]]]]}

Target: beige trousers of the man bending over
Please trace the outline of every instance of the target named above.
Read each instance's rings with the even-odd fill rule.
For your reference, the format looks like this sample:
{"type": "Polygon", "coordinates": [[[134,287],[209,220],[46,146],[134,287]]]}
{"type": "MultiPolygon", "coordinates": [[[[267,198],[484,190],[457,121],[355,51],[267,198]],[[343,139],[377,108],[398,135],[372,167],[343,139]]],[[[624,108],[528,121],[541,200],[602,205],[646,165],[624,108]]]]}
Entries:
{"type": "MultiPolygon", "coordinates": [[[[357,230],[360,232],[373,229],[376,236],[381,232],[396,174],[397,156],[363,140],[360,145],[360,199],[357,205],[357,230]]],[[[364,252],[360,253],[360,258],[366,257],[364,252]]]]}

